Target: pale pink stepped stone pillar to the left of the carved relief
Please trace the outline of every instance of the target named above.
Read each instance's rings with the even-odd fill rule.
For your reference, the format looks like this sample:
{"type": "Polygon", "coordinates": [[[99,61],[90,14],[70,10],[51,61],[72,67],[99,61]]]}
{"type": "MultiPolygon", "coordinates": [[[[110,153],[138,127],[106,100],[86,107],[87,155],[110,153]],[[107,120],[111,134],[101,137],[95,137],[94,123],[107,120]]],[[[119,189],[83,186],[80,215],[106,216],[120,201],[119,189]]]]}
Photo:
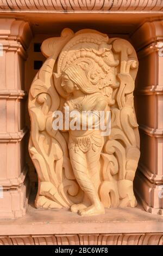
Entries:
{"type": "Polygon", "coordinates": [[[28,200],[24,62],[31,39],[28,22],[0,19],[0,218],[23,216],[28,200]]]}

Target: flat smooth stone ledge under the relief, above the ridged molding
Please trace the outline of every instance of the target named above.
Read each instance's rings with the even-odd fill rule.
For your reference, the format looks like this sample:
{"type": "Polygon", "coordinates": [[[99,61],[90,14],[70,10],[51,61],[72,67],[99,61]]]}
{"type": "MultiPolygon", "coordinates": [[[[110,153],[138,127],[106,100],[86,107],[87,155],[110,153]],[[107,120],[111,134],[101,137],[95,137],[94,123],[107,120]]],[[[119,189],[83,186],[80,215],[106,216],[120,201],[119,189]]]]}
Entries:
{"type": "Polygon", "coordinates": [[[26,216],[0,220],[0,236],[145,233],[163,235],[163,217],[145,212],[141,206],[82,217],[65,209],[37,210],[29,205],[26,216]]]}

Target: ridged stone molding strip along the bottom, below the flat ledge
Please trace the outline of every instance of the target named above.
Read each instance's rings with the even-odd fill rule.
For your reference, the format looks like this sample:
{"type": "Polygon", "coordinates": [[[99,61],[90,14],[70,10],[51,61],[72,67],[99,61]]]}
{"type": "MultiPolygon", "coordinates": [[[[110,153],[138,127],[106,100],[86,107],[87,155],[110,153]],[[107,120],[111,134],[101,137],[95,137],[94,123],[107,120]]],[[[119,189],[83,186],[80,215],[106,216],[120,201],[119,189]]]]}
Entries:
{"type": "Polygon", "coordinates": [[[0,245],[163,245],[163,233],[0,236],[0,245]]]}

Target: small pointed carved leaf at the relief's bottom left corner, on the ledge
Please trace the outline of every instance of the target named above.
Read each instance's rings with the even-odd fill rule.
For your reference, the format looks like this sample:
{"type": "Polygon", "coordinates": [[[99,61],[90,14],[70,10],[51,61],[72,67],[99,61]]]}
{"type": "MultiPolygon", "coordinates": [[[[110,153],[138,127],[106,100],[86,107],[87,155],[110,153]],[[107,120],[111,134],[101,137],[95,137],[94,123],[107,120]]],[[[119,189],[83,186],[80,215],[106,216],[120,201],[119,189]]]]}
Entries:
{"type": "Polygon", "coordinates": [[[54,201],[44,197],[44,195],[40,195],[36,200],[35,200],[35,207],[40,208],[40,209],[61,209],[62,206],[55,203],[54,201]]]}

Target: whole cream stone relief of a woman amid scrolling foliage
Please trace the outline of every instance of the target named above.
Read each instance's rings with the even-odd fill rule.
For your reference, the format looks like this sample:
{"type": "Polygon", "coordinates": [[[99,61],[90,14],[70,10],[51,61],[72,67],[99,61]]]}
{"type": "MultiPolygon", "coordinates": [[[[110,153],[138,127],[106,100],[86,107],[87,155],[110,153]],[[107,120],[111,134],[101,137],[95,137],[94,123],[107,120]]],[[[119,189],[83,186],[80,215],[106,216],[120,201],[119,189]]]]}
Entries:
{"type": "MultiPolygon", "coordinates": [[[[80,215],[104,207],[135,207],[133,179],[140,157],[133,91],[138,61],[124,39],[92,29],[43,41],[47,57],[29,92],[29,153],[39,185],[35,206],[67,207],[80,215]],[[54,111],[111,111],[111,133],[100,129],[55,130],[54,111]]],[[[82,117],[83,118],[83,117],[82,117]]],[[[71,121],[71,118],[70,118],[71,121]]]]}

